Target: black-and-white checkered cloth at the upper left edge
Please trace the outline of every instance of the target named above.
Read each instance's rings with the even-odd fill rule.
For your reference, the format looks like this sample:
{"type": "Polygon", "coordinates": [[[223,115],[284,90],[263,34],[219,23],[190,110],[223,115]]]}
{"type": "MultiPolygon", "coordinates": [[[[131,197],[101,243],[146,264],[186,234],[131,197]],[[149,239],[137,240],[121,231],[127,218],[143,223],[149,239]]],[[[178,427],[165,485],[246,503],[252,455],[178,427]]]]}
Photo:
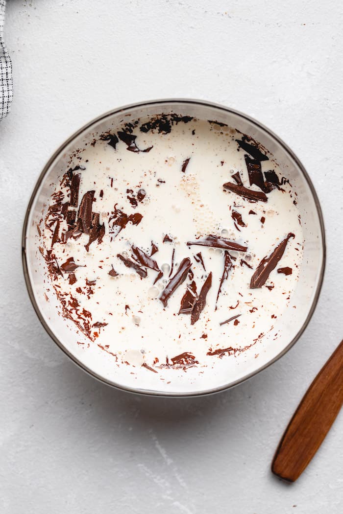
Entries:
{"type": "Polygon", "coordinates": [[[0,120],[10,112],[13,96],[12,64],[3,40],[5,7],[6,0],[0,0],[0,120]]]}

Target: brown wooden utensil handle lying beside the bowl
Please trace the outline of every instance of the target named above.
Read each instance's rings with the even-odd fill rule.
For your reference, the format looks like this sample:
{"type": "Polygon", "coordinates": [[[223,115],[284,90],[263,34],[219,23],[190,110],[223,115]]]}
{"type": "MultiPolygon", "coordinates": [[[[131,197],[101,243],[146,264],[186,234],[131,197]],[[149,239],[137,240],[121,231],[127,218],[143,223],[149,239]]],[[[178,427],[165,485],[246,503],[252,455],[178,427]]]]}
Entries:
{"type": "Polygon", "coordinates": [[[294,482],[309,464],[343,403],[343,341],[302,398],[274,455],[272,471],[294,482]]]}

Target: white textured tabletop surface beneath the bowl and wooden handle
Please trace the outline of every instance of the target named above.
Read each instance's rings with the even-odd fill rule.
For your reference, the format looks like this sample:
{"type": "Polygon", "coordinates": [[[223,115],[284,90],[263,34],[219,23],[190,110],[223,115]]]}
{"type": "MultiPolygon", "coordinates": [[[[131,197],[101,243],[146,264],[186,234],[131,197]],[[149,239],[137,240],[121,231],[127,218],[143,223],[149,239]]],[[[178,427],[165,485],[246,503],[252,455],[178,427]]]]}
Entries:
{"type": "Polygon", "coordinates": [[[343,334],[342,8],[333,0],[252,4],[8,3],[14,101],[0,124],[1,512],[341,511],[342,415],[296,484],[275,479],[269,465],[343,334]],[[50,341],[25,290],[20,237],[34,183],[66,136],[112,107],[177,96],[246,112],[291,146],[319,193],[328,266],[310,326],[271,368],[213,397],[155,399],[103,386],[50,341]]]}

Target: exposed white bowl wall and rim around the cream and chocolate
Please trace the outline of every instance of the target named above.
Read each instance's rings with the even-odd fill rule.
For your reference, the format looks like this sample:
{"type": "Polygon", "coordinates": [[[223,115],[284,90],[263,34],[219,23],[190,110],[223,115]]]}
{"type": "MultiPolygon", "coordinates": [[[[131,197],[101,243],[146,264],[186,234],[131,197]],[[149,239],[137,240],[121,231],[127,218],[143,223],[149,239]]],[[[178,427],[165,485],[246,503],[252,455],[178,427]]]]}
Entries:
{"type": "Polygon", "coordinates": [[[288,146],[268,128],[245,114],[221,105],[199,100],[158,100],[128,105],[103,114],[80,128],[52,155],[34,188],[23,228],[23,267],[32,305],[46,332],[76,364],[93,377],[116,388],[141,394],[161,396],[205,395],[236,386],[256,375],[283,356],[298,340],[315,309],[325,262],[323,218],[318,197],[308,173],[288,146]],[[151,119],[163,114],[215,120],[216,127],[234,127],[267,149],[283,176],[297,193],[303,230],[303,260],[291,304],[275,322],[273,333],[266,334],[257,346],[237,355],[223,355],[215,365],[178,366],[151,373],[142,366],[116,365],[110,351],[96,342],[80,343],[77,327],[60,315],[56,298],[46,301],[47,272],[40,254],[37,225],[47,209],[54,185],[68,168],[69,156],[106,134],[113,127],[137,119],[151,119]],[[134,368],[134,369],[133,369],[134,368]]]}

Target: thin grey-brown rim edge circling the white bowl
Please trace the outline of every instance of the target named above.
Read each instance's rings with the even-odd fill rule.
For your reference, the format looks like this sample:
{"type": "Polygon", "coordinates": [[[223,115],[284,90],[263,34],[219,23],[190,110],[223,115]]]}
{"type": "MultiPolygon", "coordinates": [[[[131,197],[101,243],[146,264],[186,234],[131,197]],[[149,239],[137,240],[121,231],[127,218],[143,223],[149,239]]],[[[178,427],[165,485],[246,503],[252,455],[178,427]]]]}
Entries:
{"type": "Polygon", "coordinates": [[[285,355],[288,352],[288,350],[290,350],[290,348],[297,342],[299,337],[304,332],[306,326],[308,326],[308,324],[310,322],[310,319],[312,318],[312,315],[313,315],[314,310],[316,308],[317,302],[318,302],[321,286],[322,286],[322,283],[323,283],[324,269],[325,269],[325,263],[326,263],[326,241],[325,241],[325,233],[324,233],[323,215],[322,215],[321,207],[320,207],[320,204],[319,204],[319,199],[318,199],[317,193],[316,193],[316,191],[314,189],[314,186],[312,184],[312,181],[311,181],[308,173],[306,172],[306,170],[302,166],[302,164],[301,164],[300,160],[298,159],[298,157],[292,152],[292,150],[290,148],[288,148],[288,146],[282,141],[282,139],[280,139],[276,134],[274,134],[272,131],[270,131],[269,128],[265,127],[264,125],[262,125],[257,120],[254,120],[253,118],[250,118],[246,114],[240,113],[239,111],[235,111],[234,109],[229,109],[229,108],[225,107],[224,105],[220,105],[220,104],[216,104],[216,103],[212,103],[212,102],[207,102],[207,101],[202,101],[202,100],[189,100],[189,99],[186,99],[186,98],[180,98],[180,99],[175,99],[174,98],[174,99],[149,100],[147,102],[134,103],[134,104],[130,104],[130,105],[125,105],[125,106],[120,107],[118,109],[114,109],[114,111],[109,111],[107,113],[104,113],[101,116],[99,116],[99,117],[95,118],[94,120],[92,120],[91,122],[85,124],[83,127],[81,127],[77,132],[75,132],[72,136],[70,136],[58,148],[58,150],[50,157],[50,159],[46,163],[45,167],[43,168],[43,171],[40,174],[39,179],[37,180],[37,183],[36,183],[36,185],[34,187],[34,190],[32,192],[32,195],[31,195],[31,198],[30,198],[27,210],[26,210],[25,219],[24,219],[24,226],[23,226],[23,234],[22,234],[22,260],[23,260],[23,269],[24,269],[24,277],[25,277],[26,287],[27,287],[27,290],[28,290],[28,293],[29,293],[29,297],[30,297],[32,306],[33,306],[33,308],[35,310],[35,313],[37,314],[40,322],[42,323],[43,327],[45,328],[45,331],[48,333],[48,335],[51,337],[51,339],[53,341],[55,341],[55,343],[61,348],[61,350],[75,364],[77,364],[83,371],[85,371],[86,373],[88,373],[92,377],[98,379],[102,383],[105,383],[105,384],[107,384],[109,386],[112,386],[112,387],[114,387],[116,389],[119,389],[119,390],[122,390],[122,391],[127,391],[127,392],[130,392],[130,393],[149,395],[149,396],[161,396],[161,397],[170,397],[170,396],[173,396],[173,397],[190,397],[190,396],[205,396],[205,395],[209,395],[209,394],[213,394],[213,393],[219,393],[221,391],[225,391],[226,389],[230,389],[230,388],[232,388],[234,386],[237,386],[238,384],[244,382],[245,380],[248,380],[252,376],[257,375],[261,371],[263,371],[266,368],[268,368],[268,366],[270,366],[271,364],[276,362],[278,359],[280,359],[283,355],[285,355]],[[43,180],[46,172],[50,168],[50,166],[53,163],[53,161],[61,154],[61,152],[63,152],[65,147],[71,141],[73,141],[75,138],[77,138],[79,135],[81,135],[84,131],[86,131],[87,128],[91,127],[92,125],[94,125],[94,123],[97,123],[97,122],[101,121],[102,119],[104,119],[106,117],[113,116],[113,115],[119,114],[121,112],[125,112],[128,109],[139,108],[139,107],[147,107],[149,105],[159,105],[159,104],[164,104],[164,103],[169,103],[169,104],[184,103],[184,104],[188,104],[188,105],[203,105],[203,106],[206,106],[206,107],[214,107],[216,109],[221,109],[221,111],[224,111],[225,113],[235,114],[235,115],[240,116],[241,118],[244,118],[245,120],[249,121],[250,123],[256,125],[259,128],[261,128],[264,132],[269,134],[269,136],[274,138],[282,146],[282,148],[285,150],[285,152],[288,153],[288,155],[290,155],[292,157],[292,159],[296,162],[296,164],[299,167],[301,173],[303,174],[306,182],[309,185],[309,188],[311,190],[312,196],[313,196],[314,201],[315,201],[315,205],[316,205],[316,209],[317,209],[317,214],[318,214],[318,217],[319,217],[320,232],[321,232],[322,247],[323,247],[322,264],[321,264],[321,269],[320,269],[320,273],[319,273],[319,280],[318,280],[318,285],[317,285],[316,292],[315,292],[315,295],[314,295],[314,299],[313,299],[313,302],[312,302],[312,305],[311,305],[311,308],[310,308],[308,316],[306,317],[302,327],[300,328],[300,330],[297,333],[297,335],[292,339],[292,341],[290,343],[288,343],[287,346],[285,348],[283,348],[283,350],[276,357],[274,357],[274,359],[270,360],[265,365],[261,366],[261,368],[258,368],[256,371],[254,371],[252,373],[249,373],[248,375],[244,376],[243,378],[241,378],[239,380],[236,380],[234,382],[228,383],[225,386],[222,386],[222,387],[219,387],[219,388],[214,388],[214,389],[210,389],[210,390],[207,390],[207,391],[196,391],[196,392],[193,392],[193,393],[166,393],[166,392],[161,392],[161,391],[153,391],[153,390],[150,391],[150,390],[139,390],[139,389],[135,389],[135,388],[128,388],[128,387],[121,386],[120,384],[112,382],[110,380],[106,380],[105,378],[101,377],[100,375],[98,375],[94,371],[89,370],[73,354],[68,352],[68,350],[62,344],[62,342],[55,336],[55,334],[53,334],[53,332],[51,331],[51,329],[49,328],[49,326],[47,325],[47,323],[43,319],[41,311],[40,311],[40,309],[39,309],[39,307],[38,307],[38,305],[37,305],[37,303],[36,303],[36,301],[34,299],[33,289],[32,289],[32,285],[31,285],[31,282],[30,282],[30,278],[29,278],[29,274],[28,274],[28,268],[27,268],[27,261],[26,261],[26,232],[27,232],[27,223],[28,223],[28,218],[29,218],[30,212],[31,212],[31,207],[32,207],[32,204],[33,204],[33,200],[34,200],[35,195],[36,195],[36,193],[37,193],[37,191],[38,191],[38,189],[39,189],[39,187],[40,187],[40,185],[42,183],[42,180],[43,180]]]}

